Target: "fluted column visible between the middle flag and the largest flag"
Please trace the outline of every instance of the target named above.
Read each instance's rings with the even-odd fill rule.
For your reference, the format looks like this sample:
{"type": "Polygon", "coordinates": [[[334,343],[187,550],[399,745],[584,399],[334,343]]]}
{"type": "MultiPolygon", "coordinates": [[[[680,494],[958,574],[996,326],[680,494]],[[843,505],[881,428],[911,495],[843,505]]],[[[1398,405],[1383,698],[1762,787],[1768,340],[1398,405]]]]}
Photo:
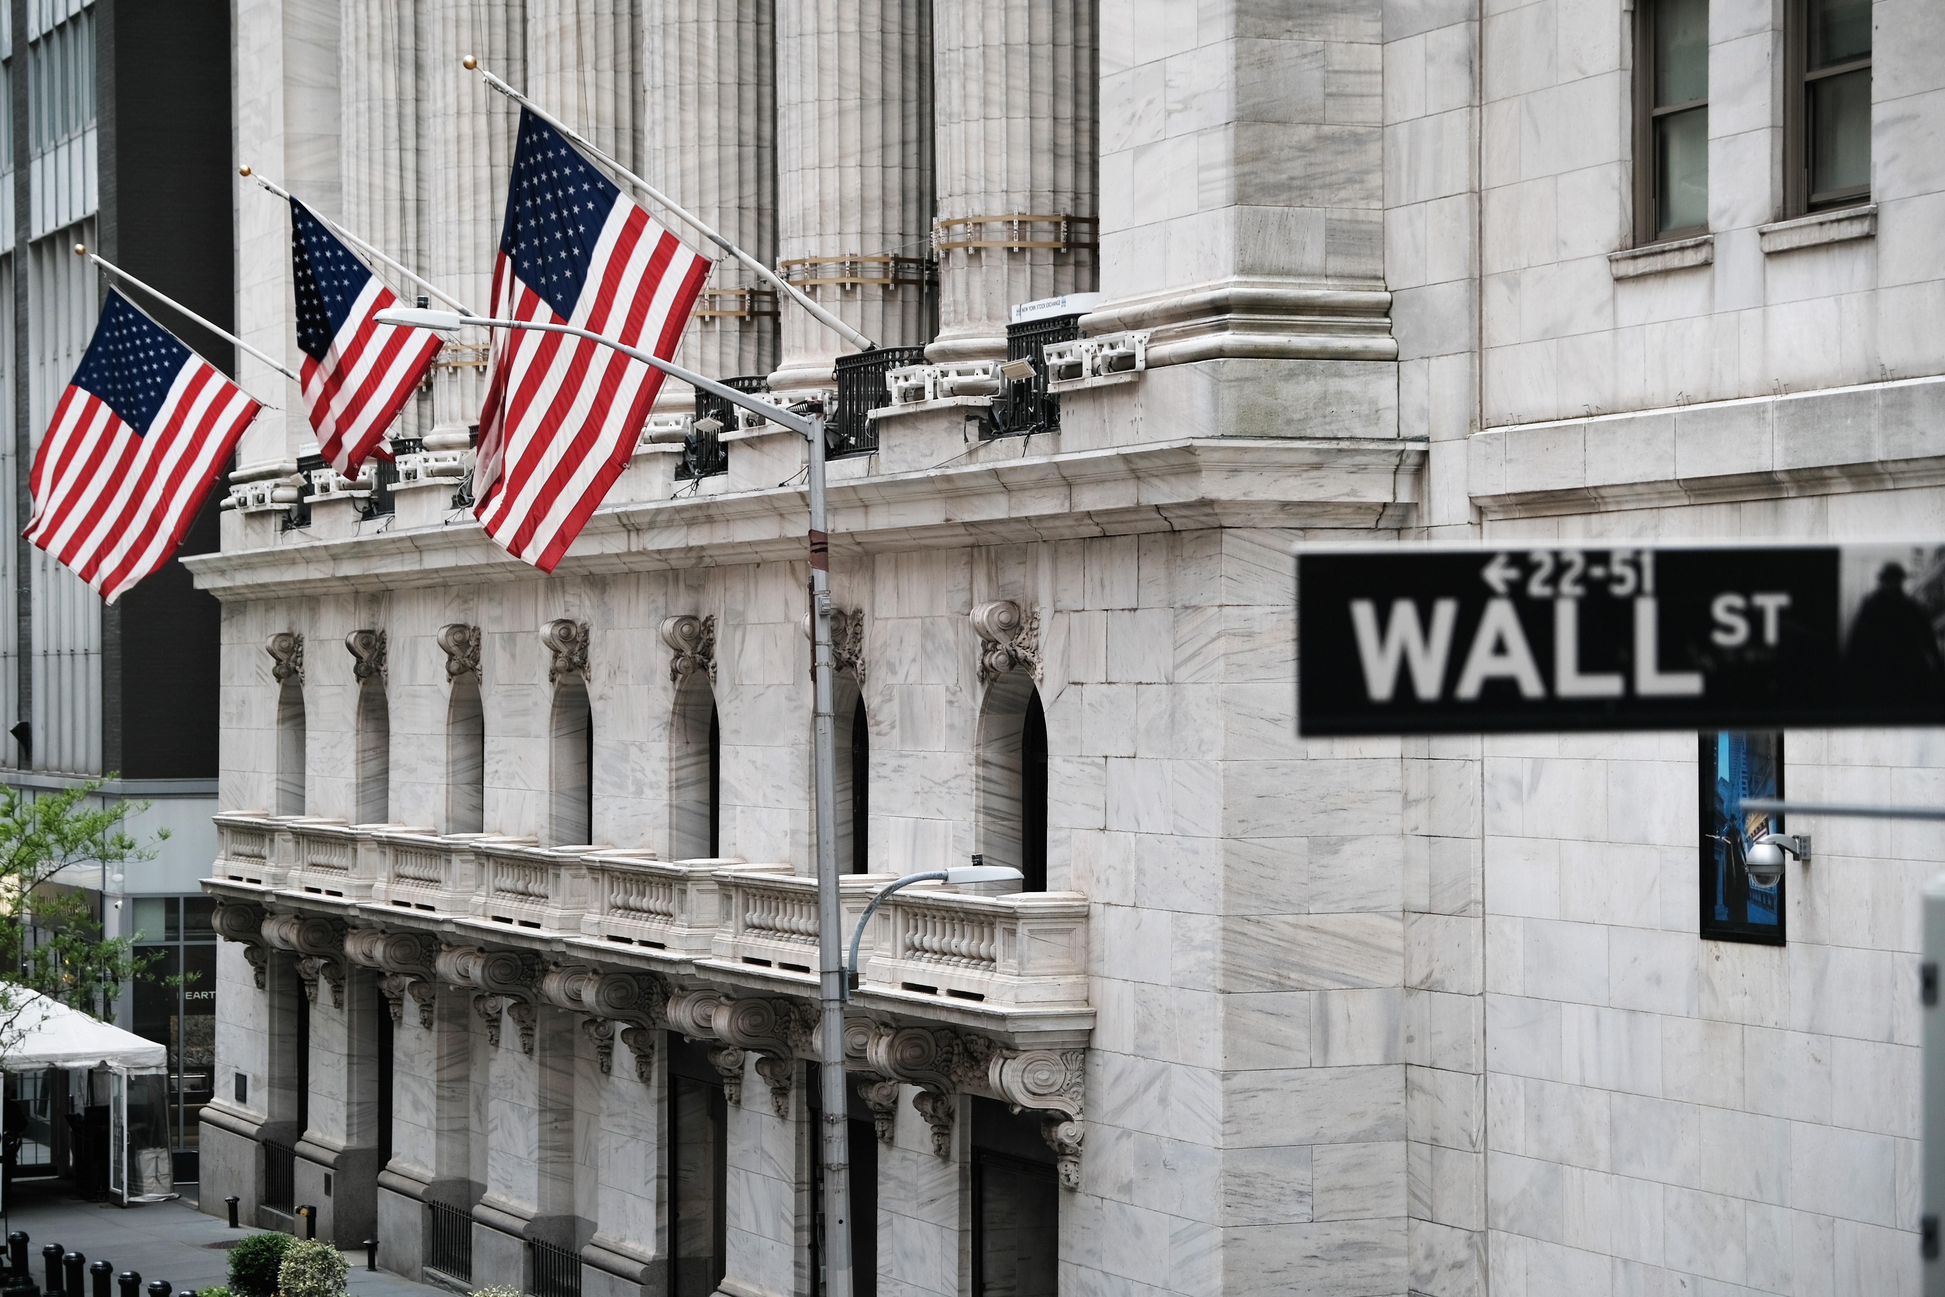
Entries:
{"type": "MultiPolygon", "coordinates": [[[[492,263],[506,218],[517,109],[461,66],[473,54],[496,76],[525,82],[525,6],[519,0],[428,0],[426,272],[475,311],[492,309],[492,263]]],[[[432,368],[434,445],[465,445],[484,397],[486,340],[459,334],[432,368]]]]}

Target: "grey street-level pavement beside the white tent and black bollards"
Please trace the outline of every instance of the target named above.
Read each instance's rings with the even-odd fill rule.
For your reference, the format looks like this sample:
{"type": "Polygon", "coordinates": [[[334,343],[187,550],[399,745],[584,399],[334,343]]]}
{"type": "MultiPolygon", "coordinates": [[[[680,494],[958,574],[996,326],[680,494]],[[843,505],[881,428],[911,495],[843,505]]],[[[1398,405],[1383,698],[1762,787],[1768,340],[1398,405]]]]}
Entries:
{"type": "MultiPolygon", "coordinates": [[[[146,1202],[117,1208],[105,1202],[82,1202],[68,1194],[66,1182],[14,1184],[6,1211],[6,1229],[25,1229],[27,1256],[33,1276],[45,1281],[41,1248],[58,1243],[68,1252],[82,1252],[89,1262],[107,1260],[115,1272],[134,1270],[142,1283],[167,1279],[175,1293],[214,1287],[230,1281],[230,1248],[255,1229],[230,1229],[220,1215],[204,1215],[189,1202],[146,1202]]],[[[193,1188],[193,1186],[185,1186],[193,1188]]],[[[383,1270],[366,1270],[364,1250],[346,1252],[352,1264],[352,1297],[451,1297],[438,1287],[412,1283],[383,1270]]]]}

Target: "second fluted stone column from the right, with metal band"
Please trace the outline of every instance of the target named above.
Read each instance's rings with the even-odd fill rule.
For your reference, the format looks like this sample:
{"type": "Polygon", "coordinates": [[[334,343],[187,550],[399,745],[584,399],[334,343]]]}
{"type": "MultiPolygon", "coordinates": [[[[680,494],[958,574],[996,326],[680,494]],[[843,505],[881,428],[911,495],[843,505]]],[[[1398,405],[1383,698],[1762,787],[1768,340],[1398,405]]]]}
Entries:
{"type": "MultiPolygon", "coordinates": [[[[780,0],[776,6],[778,245],[799,282],[879,346],[932,340],[932,4],[780,0]],[[862,261],[897,257],[902,261],[862,261]],[[852,261],[846,261],[852,259],[852,261]],[[889,284],[873,280],[893,280],[889,284]]],[[[844,350],[784,311],[770,387],[819,387],[844,350]]]]}

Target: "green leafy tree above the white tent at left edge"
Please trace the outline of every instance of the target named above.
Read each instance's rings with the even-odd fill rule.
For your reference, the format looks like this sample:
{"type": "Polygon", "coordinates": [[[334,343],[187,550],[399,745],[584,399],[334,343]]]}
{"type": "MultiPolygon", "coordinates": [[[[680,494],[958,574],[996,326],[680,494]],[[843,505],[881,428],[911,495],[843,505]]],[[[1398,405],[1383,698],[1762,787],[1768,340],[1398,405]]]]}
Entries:
{"type": "Polygon", "coordinates": [[[159,959],[138,955],[130,939],[103,939],[89,908],[86,889],[99,887],[99,873],[156,858],[123,828],[148,803],[103,799],[101,784],[33,795],[0,788],[0,1054],[31,1027],[18,1021],[23,992],[103,1015],[159,959]]]}

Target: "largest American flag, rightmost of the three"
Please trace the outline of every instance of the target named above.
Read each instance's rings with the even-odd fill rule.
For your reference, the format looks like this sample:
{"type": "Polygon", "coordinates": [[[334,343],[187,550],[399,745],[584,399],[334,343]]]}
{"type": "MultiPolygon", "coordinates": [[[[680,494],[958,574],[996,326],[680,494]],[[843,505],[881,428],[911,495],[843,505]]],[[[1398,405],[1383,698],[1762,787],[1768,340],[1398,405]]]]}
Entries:
{"type": "MultiPolygon", "coordinates": [[[[494,315],[576,325],[671,358],[708,272],[708,259],[521,109],[494,315]]],[[[659,369],[599,342],[496,333],[473,471],[486,535],[552,572],[628,467],[659,387],[659,369]]]]}

